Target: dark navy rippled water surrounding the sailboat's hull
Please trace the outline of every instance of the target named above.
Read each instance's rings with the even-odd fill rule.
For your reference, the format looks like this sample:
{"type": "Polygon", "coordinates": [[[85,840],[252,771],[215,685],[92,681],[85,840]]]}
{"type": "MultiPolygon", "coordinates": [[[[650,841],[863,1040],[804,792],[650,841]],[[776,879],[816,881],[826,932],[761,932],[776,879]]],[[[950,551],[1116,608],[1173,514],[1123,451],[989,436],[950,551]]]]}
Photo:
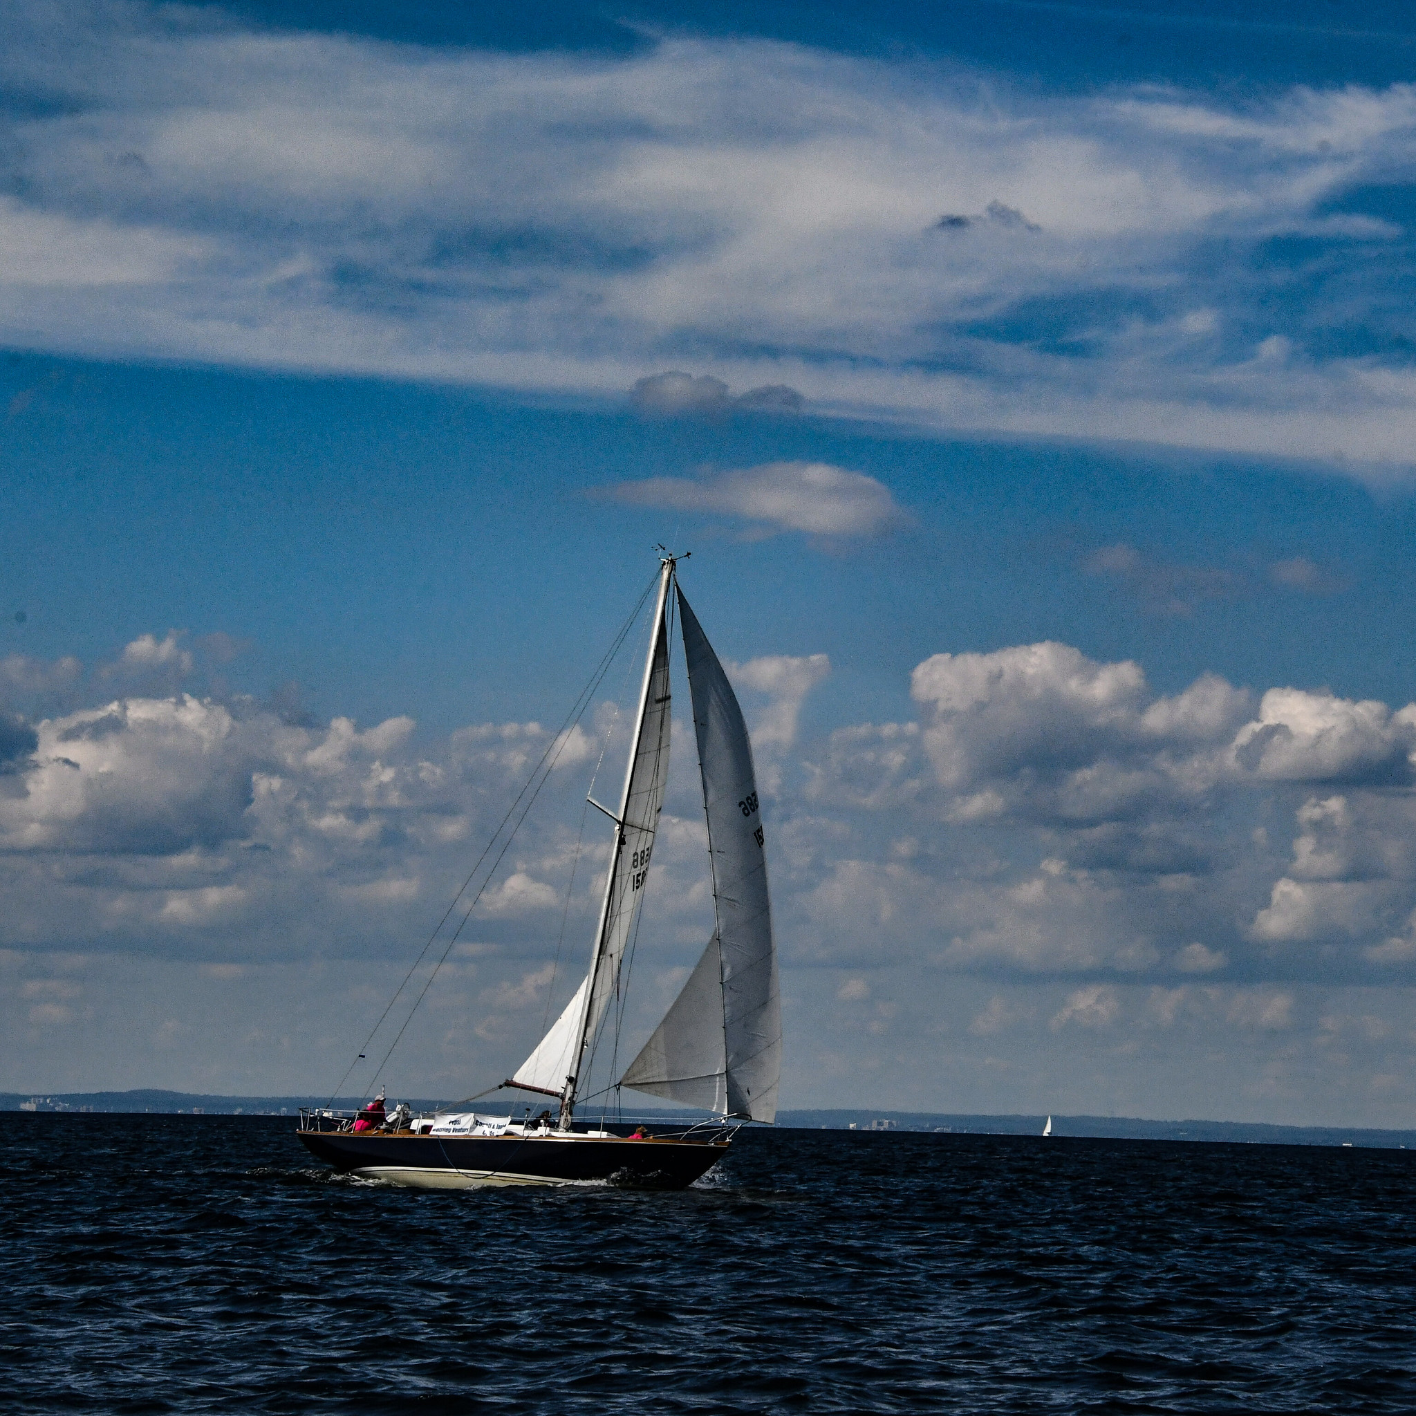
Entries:
{"type": "Polygon", "coordinates": [[[1416,1410],[1416,1151],[743,1133],[680,1194],[14,1116],[7,1412],[1416,1410]]]}

